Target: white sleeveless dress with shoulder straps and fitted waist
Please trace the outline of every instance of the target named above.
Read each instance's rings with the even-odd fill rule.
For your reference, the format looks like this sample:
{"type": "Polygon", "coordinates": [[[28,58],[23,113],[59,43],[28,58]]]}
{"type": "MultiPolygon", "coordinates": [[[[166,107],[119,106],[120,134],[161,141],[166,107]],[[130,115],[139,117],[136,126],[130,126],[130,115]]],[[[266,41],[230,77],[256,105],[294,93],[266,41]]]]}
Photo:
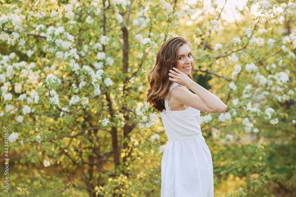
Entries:
{"type": "MultiPolygon", "coordinates": [[[[181,86],[173,83],[173,87],[181,86]]],[[[182,86],[184,87],[184,86],[182,86]]],[[[186,87],[184,87],[186,88],[186,87]]],[[[161,197],[213,197],[213,161],[200,129],[200,110],[171,111],[169,97],[160,112],[168,136],[161,160],[161,197]]]]}

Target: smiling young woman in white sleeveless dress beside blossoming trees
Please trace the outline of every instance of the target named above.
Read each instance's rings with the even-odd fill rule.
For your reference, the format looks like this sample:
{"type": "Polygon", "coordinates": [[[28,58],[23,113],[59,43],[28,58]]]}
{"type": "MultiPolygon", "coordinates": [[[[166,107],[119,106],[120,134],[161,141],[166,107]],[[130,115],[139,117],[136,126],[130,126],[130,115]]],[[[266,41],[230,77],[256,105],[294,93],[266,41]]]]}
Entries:
{"type": "Polygon", "coordinates": [[[161,197],[214,196],[213,161],[202,136],[200,112],[223,113],[227,106],[193,81],[190,47],[182,37],[166,40],[148,74],[147,102],[160,111],[168,136],[161,160],[161,197]]]}

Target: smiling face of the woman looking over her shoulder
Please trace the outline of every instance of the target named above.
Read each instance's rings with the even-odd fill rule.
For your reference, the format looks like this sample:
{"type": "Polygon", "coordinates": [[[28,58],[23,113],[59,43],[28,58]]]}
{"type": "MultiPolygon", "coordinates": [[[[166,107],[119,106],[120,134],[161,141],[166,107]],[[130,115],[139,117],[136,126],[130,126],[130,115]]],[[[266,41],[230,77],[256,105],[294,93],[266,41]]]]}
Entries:
{"type": "Polygon", "coordinates": [[[176,69],[185,73],[186,75],[191,74],[191,68],[193,65],[193,57],[191,50],[188,45],[183,44],[178,49],[178,61],[176,63],[176,69]]]}

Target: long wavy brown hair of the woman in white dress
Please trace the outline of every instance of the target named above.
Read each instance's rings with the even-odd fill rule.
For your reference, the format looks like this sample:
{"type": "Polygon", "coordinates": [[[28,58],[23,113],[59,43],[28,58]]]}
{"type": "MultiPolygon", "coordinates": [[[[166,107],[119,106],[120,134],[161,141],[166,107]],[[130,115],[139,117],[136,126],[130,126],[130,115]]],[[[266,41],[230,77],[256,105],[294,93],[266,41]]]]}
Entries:
{"type": "MultiPolygon", "coordinates": [[[[148,73],[149,90],[147,102],[162,112],[165,109],[165,97],[169,93],[169,87],[173,83],[169,80],[170,70],[176,66],[178,61],[178,49],[187,44],[190,48],[192,44],[183,37],[173,37],[166,40],[160,47],[156,55],[155,66],[148,73]]],[[[194,58],[194,56],[192,56],[194,58]]],[[[192,65],[191,72],[194,70],[192,65]]],[[[191,74],[188,75],[193,79],[191,74]]]]}

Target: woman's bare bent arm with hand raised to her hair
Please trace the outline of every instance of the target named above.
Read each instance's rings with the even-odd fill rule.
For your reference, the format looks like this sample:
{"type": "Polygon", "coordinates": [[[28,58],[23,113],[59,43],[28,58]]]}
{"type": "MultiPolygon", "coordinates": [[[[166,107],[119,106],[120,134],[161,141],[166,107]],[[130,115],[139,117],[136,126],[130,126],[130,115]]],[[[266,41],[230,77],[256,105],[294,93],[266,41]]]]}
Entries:
{"type": "Polygon", "coordinates": [[[176,68],[175,71],[170,71],[171,81],[180,85],[187,86],[195,94],[183,87],[175,87],[170,91],[172,100],[170,102],[177,102],[177,105],[188,105],[192,108],[206,113],[223,113],[227,109],[225,105],[216,95],[209,92],[199,84],[192,81],[186,74],[176,68]],[[174,75],[178,73],[178,76],[174,75]]]}

